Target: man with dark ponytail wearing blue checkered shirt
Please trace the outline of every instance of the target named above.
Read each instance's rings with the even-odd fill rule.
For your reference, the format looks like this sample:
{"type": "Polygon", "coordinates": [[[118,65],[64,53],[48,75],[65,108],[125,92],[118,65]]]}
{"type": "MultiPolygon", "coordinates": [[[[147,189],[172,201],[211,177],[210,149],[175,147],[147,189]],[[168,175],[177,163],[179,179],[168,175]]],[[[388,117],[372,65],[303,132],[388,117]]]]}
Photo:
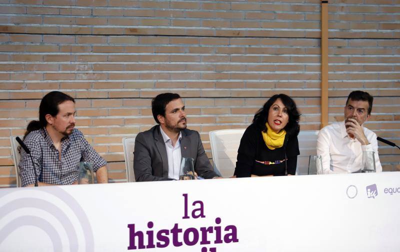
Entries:
{"type": "Polygon", "coordinates": [[[97,182],[108,181],[106,161],[85,140],[75,126],[75,100],[62,92],[44,95],[39,106],[39,120],[29,122],[21,149],[19,170],[22,186],[33,186],[36,169],[38,185],[75,184],[80,161],[91,162],[97,182]]]}

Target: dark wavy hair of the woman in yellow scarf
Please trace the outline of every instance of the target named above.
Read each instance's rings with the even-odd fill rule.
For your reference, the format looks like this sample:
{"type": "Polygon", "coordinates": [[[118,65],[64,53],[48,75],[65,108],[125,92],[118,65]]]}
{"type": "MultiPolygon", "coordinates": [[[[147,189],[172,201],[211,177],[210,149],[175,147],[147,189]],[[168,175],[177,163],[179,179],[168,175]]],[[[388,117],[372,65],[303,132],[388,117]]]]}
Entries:
{"type": "Polygon", "coordinates": [[[284,127],[284,130],[286,130],[288,136],[297,135],[298,132],[300,131],[300,125],[298,124],[298,122],[300,120],[301,114],[298,112],[294,100],[284,93],[275,94],[272,97],[270,97],[264,103],[264,105],[260,109],[258,109],[258,111],[255,113],[253,118],[253,123],[256,124],[262,131],[266,132],[265,123],[268,121],[269,108],[272,106],[273,102],[275,102],[275,100],[278,98],[287,108],[287,113],[289,115],[289,120],[286,126],[284,127]]]}

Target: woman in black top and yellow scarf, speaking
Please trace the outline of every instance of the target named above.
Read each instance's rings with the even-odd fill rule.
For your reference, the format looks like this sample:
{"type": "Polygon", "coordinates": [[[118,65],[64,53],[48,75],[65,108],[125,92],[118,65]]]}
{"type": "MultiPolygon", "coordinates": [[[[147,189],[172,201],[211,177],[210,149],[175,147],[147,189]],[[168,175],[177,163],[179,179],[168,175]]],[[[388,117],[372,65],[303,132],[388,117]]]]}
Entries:
{"type": "Polygon", "coordinates": [[[297,165],[297,134],[300,113],[286,94],[275,94],[254,115],[237,150],[234,175],[294,175],[297,165]]]}

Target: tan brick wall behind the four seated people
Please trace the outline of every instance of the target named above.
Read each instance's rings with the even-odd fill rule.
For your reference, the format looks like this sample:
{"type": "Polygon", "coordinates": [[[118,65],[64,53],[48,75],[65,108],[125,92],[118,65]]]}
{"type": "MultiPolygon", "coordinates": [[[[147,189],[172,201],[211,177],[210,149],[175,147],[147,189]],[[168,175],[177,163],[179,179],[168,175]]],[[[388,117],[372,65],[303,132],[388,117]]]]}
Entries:
{"type": "MultiPolygon", "coordinates": [[[[15,184],[9,136],[54,89],[76,98],[77,128],[115,182],[121,138],[154,124],[160,92],[184,97],[209,157],[209,130],[246,127],[274,93],[295,99],[301,129],[319,129],[319,2],[0,0],[0,186],[15,184]]],[[[399,0],[329,2],[329,121],[366,90],[367,126],[398,145],[399,13],[399,0]]],[[[400,169],[399,153],[379,148],[385,170],[400,169]]]]}

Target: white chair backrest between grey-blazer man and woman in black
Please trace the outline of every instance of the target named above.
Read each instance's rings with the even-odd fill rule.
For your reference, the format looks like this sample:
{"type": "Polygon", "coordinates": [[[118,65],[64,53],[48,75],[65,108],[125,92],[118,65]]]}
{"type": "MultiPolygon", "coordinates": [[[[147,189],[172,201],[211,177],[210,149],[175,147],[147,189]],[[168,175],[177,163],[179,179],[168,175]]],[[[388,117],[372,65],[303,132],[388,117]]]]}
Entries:
{"type": "Polygon", "coordinates": [[[244,130],[244,128],[221,129],[208,133],[214,170],[223,177],[233,175],[237,160],[237,149],[244,130]]]}

